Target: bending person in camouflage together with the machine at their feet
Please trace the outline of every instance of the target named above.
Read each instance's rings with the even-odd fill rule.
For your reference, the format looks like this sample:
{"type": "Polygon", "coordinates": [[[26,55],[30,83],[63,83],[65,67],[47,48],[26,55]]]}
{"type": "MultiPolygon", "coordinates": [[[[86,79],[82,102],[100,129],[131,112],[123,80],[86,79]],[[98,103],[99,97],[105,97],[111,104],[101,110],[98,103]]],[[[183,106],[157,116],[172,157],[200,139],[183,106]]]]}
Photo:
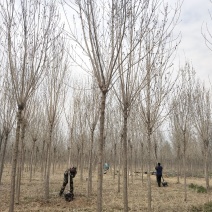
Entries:
{"type": "Polygon", "coordinates": [[[70,192],[68,192],[67,194],[65,194],[65,199],[67,201],[72,201],[74,199],[74,185],[73,185],[73,178],[76,176],[77,174],[77,168],[76,167],[72,167],[72,168],[69,168],[67,169],[65,172],[64,172],[64,178],[63,178],[63,185],[60,189],[60,193],[59,195],[62,196],[64,190],[65,190],[65,187],[66,185],[68,184],[68,179],[69,180],[69,184],[70,184],[70,192]]]}

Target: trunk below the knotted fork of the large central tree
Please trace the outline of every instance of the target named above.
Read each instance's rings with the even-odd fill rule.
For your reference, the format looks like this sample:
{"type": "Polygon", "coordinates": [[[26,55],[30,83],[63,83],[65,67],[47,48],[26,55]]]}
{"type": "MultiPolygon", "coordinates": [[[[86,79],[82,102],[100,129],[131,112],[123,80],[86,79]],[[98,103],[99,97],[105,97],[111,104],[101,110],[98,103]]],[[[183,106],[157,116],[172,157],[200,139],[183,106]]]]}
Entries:
{"type": "Polygon", "coordinates": [[[100,111],[100,136],[98,145],[98,182],[97,182],[97,211],[102,212],[102,184],[103,184],[103,148],[104,148],[104,125],[105,125],[105,105],[107,91],[101,93],[100,111]]]}

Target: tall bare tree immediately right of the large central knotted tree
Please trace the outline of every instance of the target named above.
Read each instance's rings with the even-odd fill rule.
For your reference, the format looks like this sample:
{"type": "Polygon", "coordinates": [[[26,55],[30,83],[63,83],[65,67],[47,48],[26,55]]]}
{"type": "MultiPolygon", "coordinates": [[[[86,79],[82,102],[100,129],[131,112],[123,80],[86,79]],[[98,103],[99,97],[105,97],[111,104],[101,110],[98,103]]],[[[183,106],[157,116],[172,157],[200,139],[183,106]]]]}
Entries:
{"type": "Polygon", "coordinates": [[[123,38],[121,51],[117,61],[117,81],[113,86],[122,111],[122,145],[123,145],[123,205],[124,211],[128,211],[128,119],[133,104],[144,87],[145,73],[141,69],[143,58],[143,38],[148,27],[153,22],[153,13],[147,15],[148,3],[129,1],[127,7],[126,33],[123,38]]]}

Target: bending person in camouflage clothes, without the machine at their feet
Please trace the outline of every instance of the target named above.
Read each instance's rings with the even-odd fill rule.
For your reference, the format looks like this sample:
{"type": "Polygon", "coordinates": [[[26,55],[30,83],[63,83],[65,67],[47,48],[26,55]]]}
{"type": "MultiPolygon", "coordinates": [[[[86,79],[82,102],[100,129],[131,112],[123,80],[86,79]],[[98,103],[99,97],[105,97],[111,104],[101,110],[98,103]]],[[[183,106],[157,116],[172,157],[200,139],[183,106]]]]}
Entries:
{"type": "Polygon", "coordinates": [[[71,167],[69,169],[67,169],[64,172],[64,178],[63,178],[63,185],[60,189],[60,193],[59,195],[62,196],[66,185],[68,184],[68,176],[70,177],[70,194],[72,195],[72,198],[74,197],[74,186],[73,186],[73,178],[75,177],[75,175],[77,174],[77,168],[76,167],[71,167]]]}

